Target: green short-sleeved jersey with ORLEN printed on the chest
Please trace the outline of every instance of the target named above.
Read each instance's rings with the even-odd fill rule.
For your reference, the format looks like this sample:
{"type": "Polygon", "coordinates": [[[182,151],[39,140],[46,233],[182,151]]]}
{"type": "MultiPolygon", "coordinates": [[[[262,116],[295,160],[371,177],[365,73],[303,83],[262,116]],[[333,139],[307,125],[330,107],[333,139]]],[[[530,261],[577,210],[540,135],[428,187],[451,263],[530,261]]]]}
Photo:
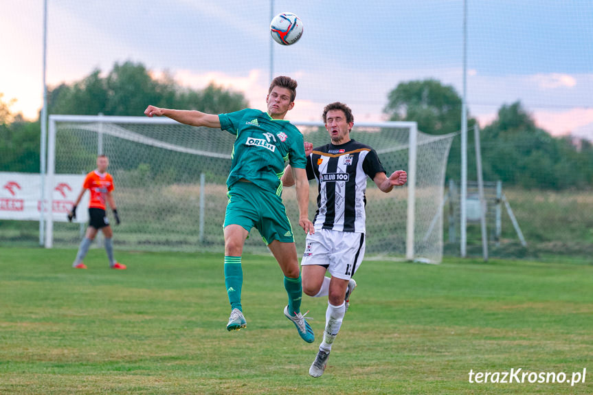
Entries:
{"type": "Polygon", "coordinates": [[[280,196],[284,163],[306,168],[302,134],[289,121],[273,120],[268,113],[254,109],[220,114],[219,120],[223,131],[236,135],[229,190],[239,179],[247,179],[280,196]]]}

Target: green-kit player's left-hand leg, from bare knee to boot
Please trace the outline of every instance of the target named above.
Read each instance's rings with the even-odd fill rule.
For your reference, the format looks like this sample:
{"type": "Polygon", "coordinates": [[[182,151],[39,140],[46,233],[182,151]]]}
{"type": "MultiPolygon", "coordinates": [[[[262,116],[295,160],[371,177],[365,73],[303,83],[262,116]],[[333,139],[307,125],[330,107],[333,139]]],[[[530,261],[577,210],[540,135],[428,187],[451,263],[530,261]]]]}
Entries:
{"type": "Polygon", "coordinates": [[[241,306],[241,288],[243,287],[241,255],[248,234],[249,232],[240,225],[225,227],[225,286],[231,304],[227,330],[240,330],[247,326],[243,316],[243,306],[241,306]]]}

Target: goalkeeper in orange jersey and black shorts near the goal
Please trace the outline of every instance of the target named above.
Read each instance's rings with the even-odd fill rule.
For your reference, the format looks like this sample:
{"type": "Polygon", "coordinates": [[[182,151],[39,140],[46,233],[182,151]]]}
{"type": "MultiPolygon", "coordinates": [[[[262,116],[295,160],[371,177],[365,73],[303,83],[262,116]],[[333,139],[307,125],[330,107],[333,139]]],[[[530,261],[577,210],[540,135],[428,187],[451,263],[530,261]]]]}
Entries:
{"type": "Polygon", "coordinates": [[[109,203],[109,207],[113,210],[113,216],[115,216],[115,223],[120,225],[120,216],[118,215],[118,209],[115,207],[115,201],[113,200],[113,177],[107,172],[107,166],[109,166],[109,159],[105,155],[99,155],[97,157],[97,168],[87,174],[85,183],[82,185],[82,190],[78,194],[76,203],[72,207],[72,210],[68,213],[68,221],[72,221],[76,218],[76,206],[80,203],[82,196],[89,190],[91,192],[91,201],[89,202],[89,227],[87,227],[87,234],[85,238],[80,242],[78,247],[78,253],[76,259],[72,264],[75,269],[87,269],[87,265],[82,262],[89,252],[91,243],[97,236],[97,232],[101,230],[103,236],[105,236],[105,251],[107,251],[107,258],[109,258],[109,267],[111,269],[126,269],[125,264],[115,262],[113,259],[113,231],[111,225],[109,225],[109,219],[105,212],[105,203],[109,203]]]}

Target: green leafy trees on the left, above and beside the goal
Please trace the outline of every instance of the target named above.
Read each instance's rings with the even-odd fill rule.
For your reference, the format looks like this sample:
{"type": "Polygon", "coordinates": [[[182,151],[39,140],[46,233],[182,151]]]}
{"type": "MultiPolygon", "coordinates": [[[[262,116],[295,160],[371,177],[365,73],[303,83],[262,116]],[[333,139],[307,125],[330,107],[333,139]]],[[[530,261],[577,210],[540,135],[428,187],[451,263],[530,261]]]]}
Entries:
{"type": "MultiPolygon", "coordinates": [[[[211,113],[228,113],[247,106],[242,93],[214,83],[203,90],[182,88],[170,74],[157,79],[142,63],[130,61],[115,63],[107,76],[94,69],[82,80],[59,84],[48,90],[47,102],[49,114],[72,115],[139,116],[148,104],[211,113]]],[[[22,115],[12,114],[11,104],[4,102],[0,93],[0,171],[38,172],[40,122],[23,121],[22,115]]],[[[71,162],[95,155],[77,149],[80,139],[76,136],[62,139],[59,144],[71,147],[65,148],[71,162]]]]}

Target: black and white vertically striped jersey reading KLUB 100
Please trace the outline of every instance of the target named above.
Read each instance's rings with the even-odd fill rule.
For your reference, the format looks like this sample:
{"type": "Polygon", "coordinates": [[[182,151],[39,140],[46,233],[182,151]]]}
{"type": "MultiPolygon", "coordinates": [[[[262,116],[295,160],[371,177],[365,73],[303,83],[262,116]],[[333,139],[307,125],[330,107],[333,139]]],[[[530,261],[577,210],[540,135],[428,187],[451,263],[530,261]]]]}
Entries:
{"type": "Polygon", "coordinates": [[[307,177],[317,179],[315,229],[366,231],[366,177],[385,172],[377,152],[355,140],[313,149],[307,157],[307,177]]]}

